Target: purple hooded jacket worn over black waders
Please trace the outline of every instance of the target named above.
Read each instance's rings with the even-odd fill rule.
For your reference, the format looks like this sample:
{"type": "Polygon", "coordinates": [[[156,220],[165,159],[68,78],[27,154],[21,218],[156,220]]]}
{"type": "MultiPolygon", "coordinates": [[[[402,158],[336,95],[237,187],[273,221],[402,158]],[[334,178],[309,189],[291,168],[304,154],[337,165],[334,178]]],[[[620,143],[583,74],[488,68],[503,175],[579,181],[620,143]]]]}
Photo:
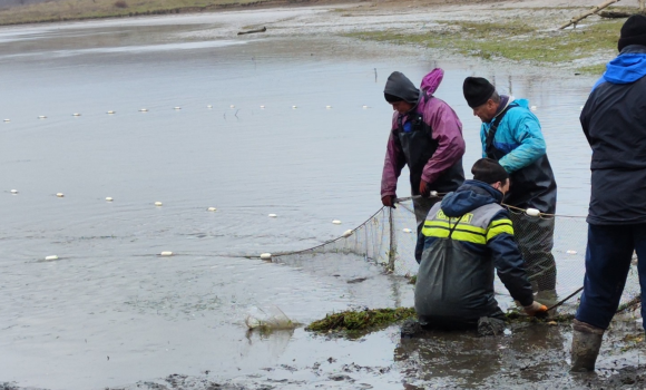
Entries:
{"type": "MultiPolygon", "coordinates": [[[[435,68],[424,76],[421,89],[430,98],[420,99],[419,105],[411,110],[413,114],[422,114],[423,120],[432,128],[433,140],[438,142],[435,153],[422,172],[422,179],[431,185],[442,173],[462,158],[466,149],[462,138],[462,123],[448,104],[431,96],[442,82],[443,76],[444,71],[440,68],[435,68]]],[[[395,111],[393,115],[381,177],[381,197],[395,195],[398,177],[405,166],[403,152],[395,143],[400,116],[403,116],[403,124],[408,120],[408,114],[395,111]]]]}

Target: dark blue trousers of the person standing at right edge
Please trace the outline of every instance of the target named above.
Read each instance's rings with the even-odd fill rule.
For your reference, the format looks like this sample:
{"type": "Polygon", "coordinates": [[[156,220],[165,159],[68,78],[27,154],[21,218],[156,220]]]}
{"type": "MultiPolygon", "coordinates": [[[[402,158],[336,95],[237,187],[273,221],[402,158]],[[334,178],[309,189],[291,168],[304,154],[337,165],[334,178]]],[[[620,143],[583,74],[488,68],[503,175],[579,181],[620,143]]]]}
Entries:
{"type": "MultiPolygon", "coordinates": [[[[626,285],[633,252],[637,251],[642,286],[642,318],[646,316],[646,224],[588,225],[586,277],[576,319],[607,329],[626,285]]],[[[644,324],[646,329],[646,323],[644,324]]]]}

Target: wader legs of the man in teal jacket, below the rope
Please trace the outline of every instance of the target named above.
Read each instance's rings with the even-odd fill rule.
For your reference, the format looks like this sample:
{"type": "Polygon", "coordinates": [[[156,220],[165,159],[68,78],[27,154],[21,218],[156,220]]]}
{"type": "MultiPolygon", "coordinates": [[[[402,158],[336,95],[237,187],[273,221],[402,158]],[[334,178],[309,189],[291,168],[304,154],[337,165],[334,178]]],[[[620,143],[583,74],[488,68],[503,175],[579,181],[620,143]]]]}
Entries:
{"type": "Polygon", "coordinates": [[[539,218],[525,213],[509,212],[513,232],[522,259],[527,266],[527,279],[531,290],[556,289],[556,261],[551,254],[554,246],[554,218],[539,218]]]}

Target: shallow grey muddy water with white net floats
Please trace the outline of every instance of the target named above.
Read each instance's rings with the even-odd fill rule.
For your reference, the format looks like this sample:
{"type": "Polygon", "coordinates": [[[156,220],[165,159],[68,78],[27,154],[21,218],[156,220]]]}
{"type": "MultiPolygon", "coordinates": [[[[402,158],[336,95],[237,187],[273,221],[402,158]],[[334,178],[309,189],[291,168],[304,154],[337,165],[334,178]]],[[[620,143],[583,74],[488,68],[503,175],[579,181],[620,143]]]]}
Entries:
{"type": "MultiPolygon", "coordinates": [[[[174,373],[188,376],[186,388],[432,382],[401,363],[397,329],[349,341],[244,325],[264,304],[304,324],[349,308],[412,305],[405,280],[363,262],[244,257],[310,247],[379,209],[391,117],[382,90],[393,70],[418,82],[446,69],[435,95],[463,121],[467,167],[480,146],[463,78],[528,98],[558,211],[585,215],[590,150],[578,113],[594,78],[343,38],[235,36],[307,12],[321,10],[0,29],[0,113],[10,119],[0,125],[0,382],[136,388],[174,373]]],[[[552,344],[562,354],[566,343],[552,344]]],[[[463,377],[460,358],[442,359],[447,383],[463,377]]],[[[479,380],[497,372],[476,371],[479,380]]]]}

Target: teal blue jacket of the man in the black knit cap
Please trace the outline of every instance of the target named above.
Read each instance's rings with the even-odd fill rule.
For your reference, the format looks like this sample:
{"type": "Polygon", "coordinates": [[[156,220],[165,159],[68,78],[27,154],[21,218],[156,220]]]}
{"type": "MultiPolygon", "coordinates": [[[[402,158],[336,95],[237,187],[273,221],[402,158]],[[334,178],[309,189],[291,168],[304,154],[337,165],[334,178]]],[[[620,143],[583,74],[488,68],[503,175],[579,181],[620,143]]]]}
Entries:
{"type": "MultiPolygon", "coordinates": [[[[493,139],[493,145],[506,153],[499,163],[509,174],[525,168],[546,154],[540,124],[538,118],[528,109],[528,105],[526,99],[511,101],[509,104],[511,108],[502,118],[493,139]]],[[[496,119],[483,123],[480,129],[482,157],[487,157],[484,152],[487,134],[496,119]]]]}

